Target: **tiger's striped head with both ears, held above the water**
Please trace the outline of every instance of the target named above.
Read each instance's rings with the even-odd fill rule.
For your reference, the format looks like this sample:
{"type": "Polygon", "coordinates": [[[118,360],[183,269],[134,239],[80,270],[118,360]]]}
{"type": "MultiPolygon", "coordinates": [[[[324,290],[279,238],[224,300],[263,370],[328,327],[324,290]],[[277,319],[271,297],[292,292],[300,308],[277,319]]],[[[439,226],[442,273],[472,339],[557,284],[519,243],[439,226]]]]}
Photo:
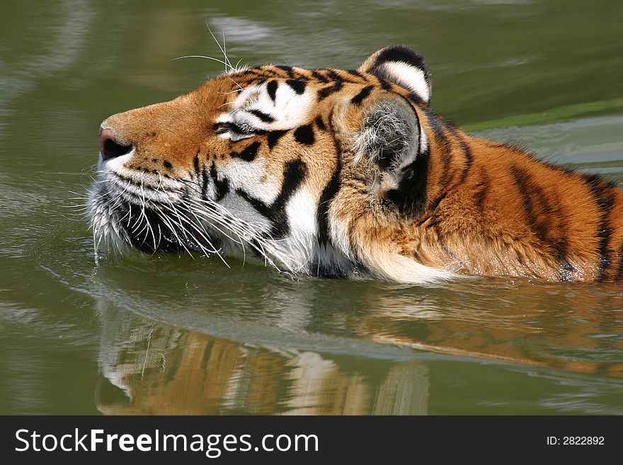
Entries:
{"type": "Polygon", "coordinates": [[[421,209],[429,100],[423,57],[392,46],[357,70],[232,70],[110,116],[88,201],[96,246],[387,275],[412,261],[394,239],[421,209]]]}

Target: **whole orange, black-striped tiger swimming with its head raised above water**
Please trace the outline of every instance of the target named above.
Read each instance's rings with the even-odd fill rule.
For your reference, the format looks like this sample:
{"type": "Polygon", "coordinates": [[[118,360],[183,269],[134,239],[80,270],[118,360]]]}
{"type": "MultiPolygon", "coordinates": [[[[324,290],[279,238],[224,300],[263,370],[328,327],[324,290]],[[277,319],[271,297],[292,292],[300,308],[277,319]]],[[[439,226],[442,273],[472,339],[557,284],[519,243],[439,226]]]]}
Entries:
{"type": "Polygon", "coordinates": [[[623,193],[466,134],[430,107],[425,59],[230,69],[99,129],[96,251],[244,256],[294,275],[623,277],[623,193]]]}

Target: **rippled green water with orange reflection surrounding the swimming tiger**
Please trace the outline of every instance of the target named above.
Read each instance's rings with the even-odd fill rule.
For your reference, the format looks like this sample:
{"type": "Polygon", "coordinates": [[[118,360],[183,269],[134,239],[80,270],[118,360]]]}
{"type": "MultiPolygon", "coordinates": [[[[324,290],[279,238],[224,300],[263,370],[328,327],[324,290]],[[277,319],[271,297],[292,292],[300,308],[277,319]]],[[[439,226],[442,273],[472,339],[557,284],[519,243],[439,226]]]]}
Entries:
{"type": "Polygon", "coordinates": [[[232,62],[357,67],[404,43],[471,131],[623,184],[620,1],[13,1],[0,28],[0,413],[623,413],[623,286],[291,280],[96,266],[106,116],[232,62]],[[234,61],[235,59],[235,61],[234,61]],[[75,216],[75,214],[78,214],[75,216]]]}

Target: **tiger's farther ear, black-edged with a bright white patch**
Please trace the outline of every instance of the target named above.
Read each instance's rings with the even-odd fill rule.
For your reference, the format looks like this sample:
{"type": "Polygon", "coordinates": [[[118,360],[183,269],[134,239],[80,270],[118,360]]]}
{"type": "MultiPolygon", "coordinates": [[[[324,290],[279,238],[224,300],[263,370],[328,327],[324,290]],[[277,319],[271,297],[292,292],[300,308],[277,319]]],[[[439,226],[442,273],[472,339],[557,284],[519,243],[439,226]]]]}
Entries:
{"type": "Polygon", "coordinates": [[[391,45],[372,54],[358,71],[393,82],[411,91],[417,100],[430,102],[430,71],[424,57],[405,45],[391,45]]]}

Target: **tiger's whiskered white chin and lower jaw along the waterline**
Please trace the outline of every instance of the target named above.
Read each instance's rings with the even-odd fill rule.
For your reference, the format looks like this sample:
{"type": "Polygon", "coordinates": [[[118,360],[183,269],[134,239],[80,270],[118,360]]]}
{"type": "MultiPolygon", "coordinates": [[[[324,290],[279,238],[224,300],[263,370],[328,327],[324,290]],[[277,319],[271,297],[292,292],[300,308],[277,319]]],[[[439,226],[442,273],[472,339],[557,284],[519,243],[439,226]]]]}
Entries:
{"type": "MultiPolygon", "coordinates": [[[[189,201],[190,202],[190,201],[189,201]]],[[[280,239],[275,241],[257,232],[252,237],[237,236],[208,224],[193,223],[201,213],[183,202],[177,207],[168,204],[166,211],[158,202],[133,202],[122,190],[101,183],[91,190],[88,212],[93,231],[93,243],[104,256],[143,260],[149,256],[174,254],[178,256],[218,256],[229,266],[231,259],[270,265],[275,270],[292,277],[313,275],[319,277],[365,276],[350,260],[340,258],[336,251],[326,246],[314,248],[311,243],[299,249],[301,241],[280,239]]],[[[302,241],[309,242],[309,241],[302,241]]]]}

